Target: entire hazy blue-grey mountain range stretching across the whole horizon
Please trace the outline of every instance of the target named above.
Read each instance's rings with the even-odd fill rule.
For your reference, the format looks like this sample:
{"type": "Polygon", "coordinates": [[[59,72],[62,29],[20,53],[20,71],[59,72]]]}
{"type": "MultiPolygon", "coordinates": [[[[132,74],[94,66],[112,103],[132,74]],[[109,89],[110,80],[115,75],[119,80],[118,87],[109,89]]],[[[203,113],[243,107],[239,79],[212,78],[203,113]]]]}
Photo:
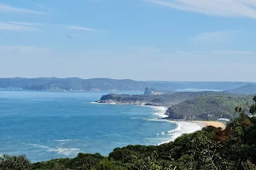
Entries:
{"type": "Polygon", "coordinates": [[[248,82],[142,82],[130,79],[81,79],[77,77],[0,78],[0,88],[23,88],[30,90],[144,91],[145,88],[149,87],[151,88],[151,91],[157,89],[156,94],[158,90],[166,93],[186,88],[227,90],[241,87],[247,83],[248,82]]]}

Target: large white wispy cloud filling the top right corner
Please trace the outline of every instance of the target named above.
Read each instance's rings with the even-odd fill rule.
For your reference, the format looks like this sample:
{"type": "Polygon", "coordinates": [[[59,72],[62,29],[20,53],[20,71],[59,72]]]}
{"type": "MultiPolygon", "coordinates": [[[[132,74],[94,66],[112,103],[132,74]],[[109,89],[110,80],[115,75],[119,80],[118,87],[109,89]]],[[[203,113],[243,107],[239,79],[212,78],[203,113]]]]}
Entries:
{"type": "Polygon", "coordinates": [[[167,8],[226,17],[256,19],[255,0],[143,0],[167,8]]]}

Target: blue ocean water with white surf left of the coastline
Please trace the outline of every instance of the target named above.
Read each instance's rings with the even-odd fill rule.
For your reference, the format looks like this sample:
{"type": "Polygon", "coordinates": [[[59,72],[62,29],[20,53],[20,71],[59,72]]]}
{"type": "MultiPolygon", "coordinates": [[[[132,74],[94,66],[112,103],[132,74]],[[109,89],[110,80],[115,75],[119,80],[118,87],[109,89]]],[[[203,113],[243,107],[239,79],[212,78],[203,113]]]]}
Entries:
{"type": "Polygon", "coordinates": [[[156,134],[177,127],[156,121],[159,111],[149,107],[91,103],[102,94],[108,92],[0,91],[0,154],[33,162],[79,152],[108,156],[127,144],[160,144],[170,134],[156,134]]]}

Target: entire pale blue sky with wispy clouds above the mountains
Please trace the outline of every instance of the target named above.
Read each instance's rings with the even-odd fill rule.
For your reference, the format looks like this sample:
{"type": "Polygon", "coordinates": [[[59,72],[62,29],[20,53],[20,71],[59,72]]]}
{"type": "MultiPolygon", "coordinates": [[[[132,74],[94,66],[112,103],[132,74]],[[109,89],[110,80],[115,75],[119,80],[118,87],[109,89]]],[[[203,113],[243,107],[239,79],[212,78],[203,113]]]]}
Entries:
{"type": "Polygon", "coordinates": [[[0,77],[256,82],[256,0],[0,0],[0,77]]]}

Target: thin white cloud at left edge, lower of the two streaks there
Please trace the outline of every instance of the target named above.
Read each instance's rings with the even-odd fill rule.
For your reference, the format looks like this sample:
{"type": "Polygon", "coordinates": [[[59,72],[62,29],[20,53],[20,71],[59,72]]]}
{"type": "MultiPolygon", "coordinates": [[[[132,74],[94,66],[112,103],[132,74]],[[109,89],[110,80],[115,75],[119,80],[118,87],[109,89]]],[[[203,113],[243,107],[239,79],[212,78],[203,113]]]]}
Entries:
{"type": "Polygon", "coordinates": [[[20,26],[5,22],[0,22],[0,30],[3,31],[37,31],[38,28],[33,26],[20,26]]]}

